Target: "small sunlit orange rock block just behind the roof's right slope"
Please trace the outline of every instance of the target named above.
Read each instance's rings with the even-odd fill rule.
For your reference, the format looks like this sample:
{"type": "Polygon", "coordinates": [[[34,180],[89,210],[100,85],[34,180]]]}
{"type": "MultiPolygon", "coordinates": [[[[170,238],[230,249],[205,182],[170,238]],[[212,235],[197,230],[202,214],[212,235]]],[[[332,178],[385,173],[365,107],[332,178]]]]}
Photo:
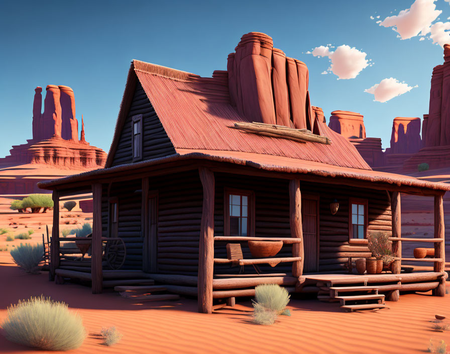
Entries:
{"type": "Polygon", "coordinates": [[[366,128],[363,115],[349,111],[334,111],[329,117],[328,127],[346,138],[364,139],[366,128]]]}

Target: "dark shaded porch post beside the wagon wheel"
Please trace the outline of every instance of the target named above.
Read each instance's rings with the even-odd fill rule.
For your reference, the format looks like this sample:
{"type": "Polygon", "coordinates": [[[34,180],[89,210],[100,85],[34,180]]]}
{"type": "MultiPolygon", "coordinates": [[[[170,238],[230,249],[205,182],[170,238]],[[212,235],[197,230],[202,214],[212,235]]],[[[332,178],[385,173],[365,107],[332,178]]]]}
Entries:
{"type": "Polygon", "coordinates": [[[100,294],[103,290],[101,269],[101,184],[92,185],[93,218],[92,218],[92,255],[91,277],[92,294],[100,294]]]}

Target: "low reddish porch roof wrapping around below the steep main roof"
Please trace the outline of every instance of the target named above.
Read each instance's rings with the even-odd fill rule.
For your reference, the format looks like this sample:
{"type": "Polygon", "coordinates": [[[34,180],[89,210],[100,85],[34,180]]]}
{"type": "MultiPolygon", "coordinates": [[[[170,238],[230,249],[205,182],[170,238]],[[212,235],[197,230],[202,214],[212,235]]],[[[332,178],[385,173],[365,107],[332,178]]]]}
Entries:
{"type": "MultiPolygon", "coordinates": [[[[320,176],[330,179],[346,179],[350,181],[362,181],[366,183],[373,183],[376,185],[386,186],[389,189],[391,185],[394,189],[398,190],[398,187],[404,188],[405,193],[420,192],[423,190],[429,192],[446,192],[450,191],[450,185],[438,182],[429,182],[424,180],[418,180],[414,177],[394,174],[387,172],[380,172],[374,170],[366,170],[360,168],[350,168],[329,165],[322,162],[300,160],[297,158],[273,156],[266,154],[257,154],[240,151],[211,151],[211,150],[191,150],[191,149],[178,149],[177,154],[155,158],[152,160],[146,160],[141,162],[135,162],[130,164],[123,164],[119,166],[96,169],[80,174],[74,174],[65,178],[43,181],[38,183],[38,187],[42,189],[56,189],[58,187],[69,187],[72,183],[79,182],[95,182],[96,179],[112,177],[115,173],[123,171],[134,171],[142,169],[144,167],[156,166],[169,162],[177,161],[189,161],[189,160],[203,160],[203,161],[216,161],[222,163],[233,163],[241,166],[253,167],[259,170],[281,172],[281,173],[297,173],[304,176],[320,176]]],[[[301,176],[298,176],[300,179],[301,176]]],[[[289,178],[287,176],[287,178],[289,178]]],[[[370,188],[370,187],[369,187],[370,188]]],[[[434,193],[436,194],[436,193],[434,193]]]]}

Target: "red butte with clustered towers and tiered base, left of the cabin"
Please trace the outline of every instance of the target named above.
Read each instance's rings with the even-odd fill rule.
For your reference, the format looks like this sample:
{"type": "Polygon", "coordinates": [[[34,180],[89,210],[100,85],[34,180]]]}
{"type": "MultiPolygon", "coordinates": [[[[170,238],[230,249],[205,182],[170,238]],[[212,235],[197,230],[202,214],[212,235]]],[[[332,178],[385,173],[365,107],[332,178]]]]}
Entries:
{"type": "Polygon", "coordinates": [[[62,168],[92,169],[103,167],[106,153],[78,140],[75,118],[75,96],[68,86],[48,85],[41,114],[42,88],[36,87],[33,102],[33,139],[27,144],[13,146],[11,155],[0,159],[2,165],[39,163],[62,168]]]}

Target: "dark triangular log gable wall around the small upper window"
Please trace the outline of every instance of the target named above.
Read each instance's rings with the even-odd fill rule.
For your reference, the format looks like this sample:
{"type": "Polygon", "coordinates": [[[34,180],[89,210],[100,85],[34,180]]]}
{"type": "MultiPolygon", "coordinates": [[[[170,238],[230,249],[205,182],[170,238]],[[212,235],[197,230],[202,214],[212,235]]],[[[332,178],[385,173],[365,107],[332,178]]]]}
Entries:
{"type": "Polygon", "coordinates": [[[175,148],[167,136],[155,109],[150,103],[139,80],[136,83],[133,101],[125,120],[119,143],[111,166],[133,162],[132,155],[132,118],[143,116],[142,160],[167,156],[175,153],[175,148]]]}

